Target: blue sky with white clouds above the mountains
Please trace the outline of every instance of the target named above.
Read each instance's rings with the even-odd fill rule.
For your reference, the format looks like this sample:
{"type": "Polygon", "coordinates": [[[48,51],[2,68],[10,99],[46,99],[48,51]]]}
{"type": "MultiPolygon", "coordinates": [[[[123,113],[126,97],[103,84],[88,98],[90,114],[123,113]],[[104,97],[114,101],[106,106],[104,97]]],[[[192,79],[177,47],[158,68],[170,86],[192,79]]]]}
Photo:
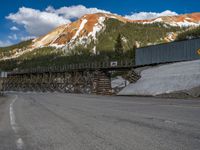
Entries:
{"type": "Polygon", "coordinates": [[[1,0],[0,46],[40,36],[85,13],[105,11],[148,19],[200,12],[199,6],[199,0],[1,0]]]}

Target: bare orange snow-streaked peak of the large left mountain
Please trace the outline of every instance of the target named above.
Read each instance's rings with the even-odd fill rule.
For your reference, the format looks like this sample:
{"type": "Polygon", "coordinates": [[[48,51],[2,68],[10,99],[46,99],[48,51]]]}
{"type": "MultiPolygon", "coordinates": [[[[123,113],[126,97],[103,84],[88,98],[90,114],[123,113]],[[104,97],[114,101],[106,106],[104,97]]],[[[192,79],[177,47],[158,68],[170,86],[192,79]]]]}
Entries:
{"type": "Polygon", "coordinates": [[[43,46],[66,47],[72,49],[78,45],[87,45],[97,41],[97,34],[106,28],[104,21],[110,18],[121,22],[130,20],[112,14],[88,14],[70,24],[62,25],[52,32],[33,41],[33,48],[43,46]]]}

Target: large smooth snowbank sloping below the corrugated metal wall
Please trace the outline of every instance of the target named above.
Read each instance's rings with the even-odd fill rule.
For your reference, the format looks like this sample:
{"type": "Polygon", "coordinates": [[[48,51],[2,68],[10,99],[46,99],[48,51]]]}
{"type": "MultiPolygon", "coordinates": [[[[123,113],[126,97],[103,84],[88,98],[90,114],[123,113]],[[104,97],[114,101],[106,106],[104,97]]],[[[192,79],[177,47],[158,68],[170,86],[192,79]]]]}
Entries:
{"type": "Polygon", "coordinates": [[[200,87],[200,60],[152,67],[141,72],[135,84],[129,84],[118,95],[169,94],[200,87]]]}

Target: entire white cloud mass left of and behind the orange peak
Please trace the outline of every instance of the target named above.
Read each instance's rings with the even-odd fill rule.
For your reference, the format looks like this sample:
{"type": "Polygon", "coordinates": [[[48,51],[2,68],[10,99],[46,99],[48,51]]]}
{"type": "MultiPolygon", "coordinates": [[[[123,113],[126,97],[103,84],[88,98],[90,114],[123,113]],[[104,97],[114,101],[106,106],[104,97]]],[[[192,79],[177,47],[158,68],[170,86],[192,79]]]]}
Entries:
{"type": "Polygon", "coordinates": [[[109,13],[97,8],[86,8],[83,5],[61,7],[59,9],[49,6],[44,11],[21,7],[17,13],[11,13],[6,18],[24,26],[31,36],[41,36],[55,27],[70,23],[70,19],[97,12],[109,13]]]}

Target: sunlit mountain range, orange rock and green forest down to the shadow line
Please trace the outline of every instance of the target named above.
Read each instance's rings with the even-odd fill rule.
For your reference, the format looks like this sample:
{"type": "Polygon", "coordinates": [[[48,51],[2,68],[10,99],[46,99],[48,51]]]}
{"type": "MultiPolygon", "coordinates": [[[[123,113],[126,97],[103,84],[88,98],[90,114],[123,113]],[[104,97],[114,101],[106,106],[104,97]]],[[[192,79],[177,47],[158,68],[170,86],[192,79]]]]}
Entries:
{"type": "Polygon", "coordinates": [[[113,50],[118,34],[122,34],[124,50],[131,49],[134,43],[137,46],[155,45],[174,41],[188,26],[191,28],[199,24],[200,13],[151,20],[129,20],[105,13],[87,14],[34,39],[23,49],[11,47],[10,50],[6,48],[6,52],[0,49],[0,60],[15,59],[42,47],[60,48],[65,52],[74,52],[77,49],[93,53],[113,50]]]}

